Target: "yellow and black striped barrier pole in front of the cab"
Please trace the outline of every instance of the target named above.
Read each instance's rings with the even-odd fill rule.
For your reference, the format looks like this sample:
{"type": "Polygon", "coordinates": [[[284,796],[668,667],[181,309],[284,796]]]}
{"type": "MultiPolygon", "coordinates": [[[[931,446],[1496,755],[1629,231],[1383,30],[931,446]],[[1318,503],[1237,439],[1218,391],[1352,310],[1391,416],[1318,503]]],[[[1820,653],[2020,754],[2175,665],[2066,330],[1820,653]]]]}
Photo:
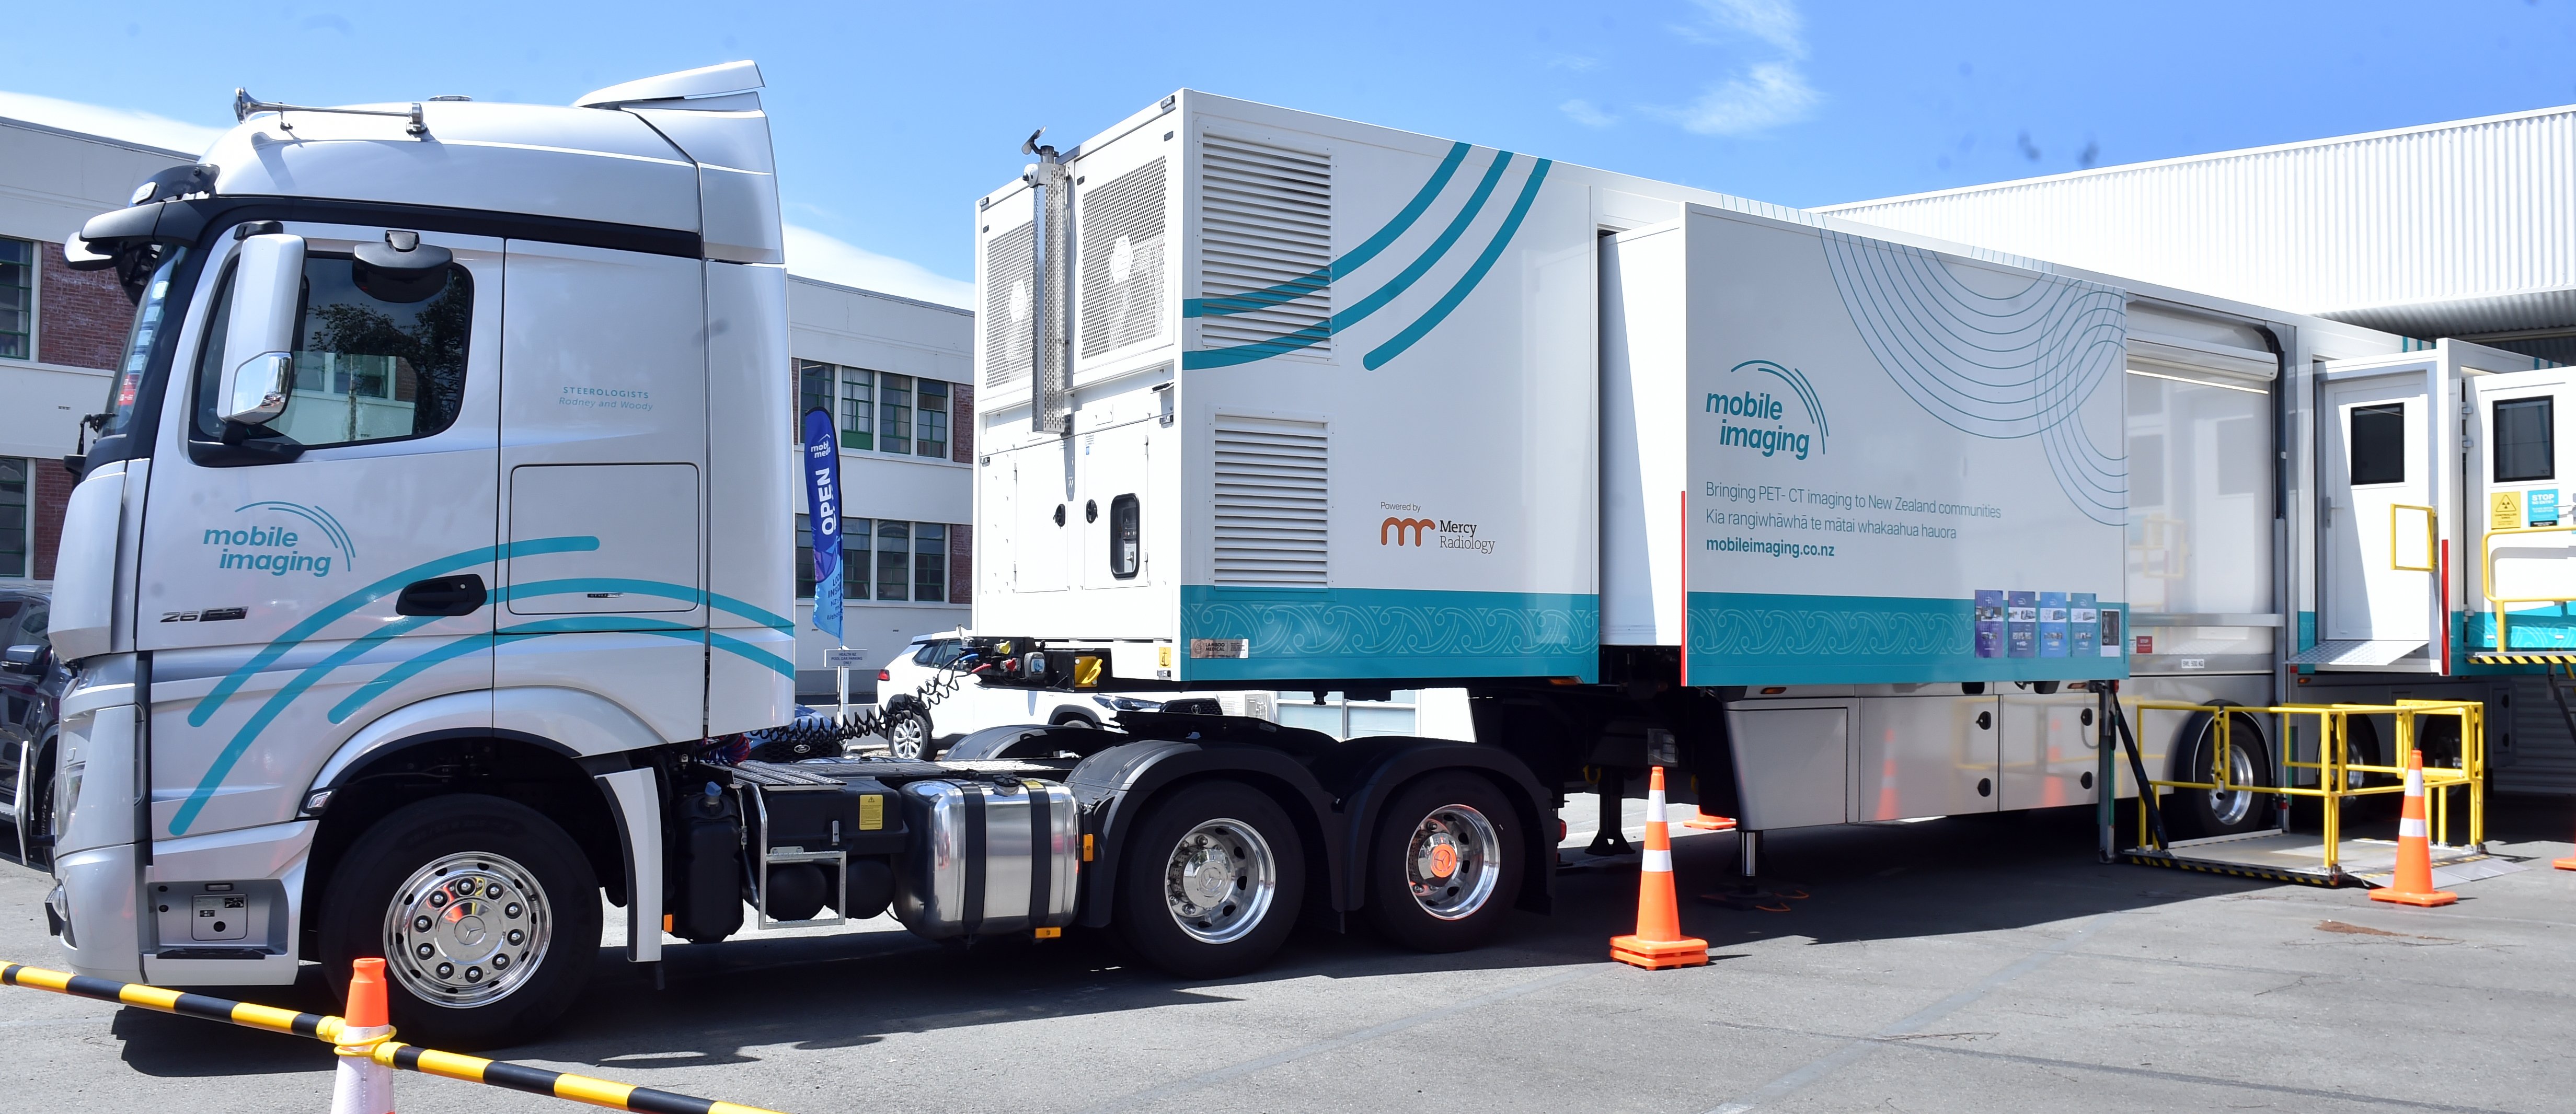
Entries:
{"type": "MultiPolygon", "coordinates": [[[[340,1042],[345,1021],[327,1014],[296,1014],[291,1009],[258,1006],[247,1001],[214,998],[204,993],[165,991],[144,983],[118,983],[111,978],[70,975],[59,970],[0,962],[0,985],[26,985],[72,998],[98,998],[121,1006],[152,1009],[162,1014],[196,1016],[206,1021],[240,1024],[294,1037],[340,1042]]],[[[639,1114],[778,1114],[762,1106],[742,1106],[716,1099],[693,1099],[649,1086],[611,1083],[605,1078],[574,1075],[567,1070],[528,1068],[479,1055],[438,1052],[433,1047],[376,1042],[371,1057],[379,1065],[417,1070],[422,1075],[461,1078],[466,1083],[502,1086],[510,1091],[572,1099],[592,1106],[639,1114]]]]}

